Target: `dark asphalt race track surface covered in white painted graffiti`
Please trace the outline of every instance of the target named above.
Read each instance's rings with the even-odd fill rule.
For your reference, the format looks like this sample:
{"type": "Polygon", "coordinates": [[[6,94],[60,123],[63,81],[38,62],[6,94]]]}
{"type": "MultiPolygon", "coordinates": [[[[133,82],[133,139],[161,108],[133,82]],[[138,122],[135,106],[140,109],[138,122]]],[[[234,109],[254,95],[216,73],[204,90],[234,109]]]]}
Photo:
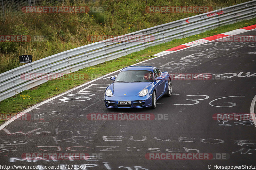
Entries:
{"type": "MultiPolygon", "coordinates": [[[[256,31],[239,35],[256,35],[256,31]]],[[[256,95],[255,56],[255,42],[211,41],[140,63],[171,74],[230,76],[219,78],[214,75],[210,80],[172,80],[172,96],[160,98],[155,110],[105,108],[104,89],[113,82],[107,77],[118,72],[75,89],[28,112],[32,118],[43,115],[44,121],[15,120],[0,131],[1,165],[70,165],[71,169],[71,165],[86,164],[89,170],[256,166],[256,129],[252,120],[212,118],[216,113],[250,114],[252,99],[256,95]],[[165,120],[88,120],[86,116],[90,113],[150,113],[156,119],[167,117],[165,120]],[[223,153],[228,159],[145,158],[147,153],[186,152],[223,153]],[[88,153],[100,158],[30,161],[23,159],[24,153],[88,153]]],[[[78,168],[73,166],[73,169],[78,168]]]]}

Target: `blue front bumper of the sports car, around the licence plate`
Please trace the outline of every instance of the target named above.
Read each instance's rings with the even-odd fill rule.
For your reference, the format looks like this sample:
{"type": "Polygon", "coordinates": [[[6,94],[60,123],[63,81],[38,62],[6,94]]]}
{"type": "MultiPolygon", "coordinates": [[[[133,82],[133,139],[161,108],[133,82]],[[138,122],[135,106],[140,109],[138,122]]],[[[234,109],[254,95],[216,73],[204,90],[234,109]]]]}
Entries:
{"type": "Polygon", "coordinates": [[[104,103],[107,108],[144,108],[152,105],[152,95],[146,95],[140,97],[137,96],[111,96],[108,97],[105,95],[104,103]],[[110,103],[108,103],[110,101],[110,103]],[[118,105],[117,101],[131,101],[129,105],[118,105]],[[141,101],[141,103],[139,103],[141,101]]]}

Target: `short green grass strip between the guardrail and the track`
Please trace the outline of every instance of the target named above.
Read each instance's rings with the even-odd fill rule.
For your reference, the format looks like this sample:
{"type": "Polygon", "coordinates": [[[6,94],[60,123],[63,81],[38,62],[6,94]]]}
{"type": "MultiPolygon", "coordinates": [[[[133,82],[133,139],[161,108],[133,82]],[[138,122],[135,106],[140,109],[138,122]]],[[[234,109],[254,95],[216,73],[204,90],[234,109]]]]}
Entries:
{"type": "MultiPolygon", "coordinates": [[[[118,69],[121,69],[126,66],[138,63],[140,61],[148,60],[153,58],[153,54],[162,52],[169,48],[191,42],[197,39],[202,39],[212,35],[220,34],[223,32],[232,31],[238,28],[242,28],[249,25],[256,24],[256,18],[238,22],[231,25],[224,25],[218,28],[215,28],[210,31],[206,31],[197,35],[189,36],[183,39],[174,39],[165,44],[160,44],[157,46],[148,47],[147,49],[141,50],[139,52],[131,53],[129,55],[120,57],[115,60],[107,61],[105,63],[98,64],[96,66],[87,67],[76,72],[76,74],[84,74],[86,76],[83,79],[73,79],[73,80],[63,80],[64,78],[53,79],[45,82],[33,89],[23,91],[13,97],[7,98],[0,102],[0,113],[1,114],[17,114],[20,111],[27,109],[28,107],[35,105],[36,103],[42,102],[48,98],[56,96],[62,92],[72,89],[78,85],[81,85],[85,82],[91,81],[102,75],[111,73],[118,69]]],[[[74,73],[73,73],[74,74],[74,73]]],[[[4,120],[0,120],[0,124],[4,120]]]]}

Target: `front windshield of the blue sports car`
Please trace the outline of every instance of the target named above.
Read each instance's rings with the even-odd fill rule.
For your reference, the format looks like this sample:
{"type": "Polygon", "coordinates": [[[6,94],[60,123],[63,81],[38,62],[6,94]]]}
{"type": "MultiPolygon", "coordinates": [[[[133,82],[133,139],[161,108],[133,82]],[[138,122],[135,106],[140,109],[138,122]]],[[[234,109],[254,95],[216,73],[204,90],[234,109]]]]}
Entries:
{"type": "Polygon", "coordinates": [[[115,82],[152,82],[153,73],[146,70],[121,71],[115,82]]]}

